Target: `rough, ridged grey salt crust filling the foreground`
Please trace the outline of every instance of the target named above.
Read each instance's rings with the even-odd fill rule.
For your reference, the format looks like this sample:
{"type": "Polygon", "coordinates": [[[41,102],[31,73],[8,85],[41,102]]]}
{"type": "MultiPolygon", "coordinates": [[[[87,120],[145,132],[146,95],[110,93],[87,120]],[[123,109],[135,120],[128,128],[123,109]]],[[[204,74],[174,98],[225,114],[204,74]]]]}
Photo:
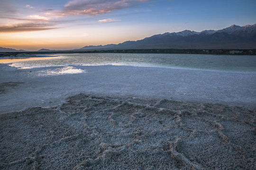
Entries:
{"type": "Polygon", "coordinates": [[[256,169],[256,110],[77,94],[0,115],[1,170],[256,169]]]}

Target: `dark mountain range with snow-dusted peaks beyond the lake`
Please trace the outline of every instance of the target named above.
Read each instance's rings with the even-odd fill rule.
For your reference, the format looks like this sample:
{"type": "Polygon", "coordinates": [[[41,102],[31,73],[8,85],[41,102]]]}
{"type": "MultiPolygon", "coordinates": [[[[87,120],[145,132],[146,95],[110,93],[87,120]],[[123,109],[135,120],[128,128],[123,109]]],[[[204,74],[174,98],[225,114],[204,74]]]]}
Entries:
{"type": "Polygon", "coordinates": [[[222,30],[156,34],[138,41],[85,46],[80,50],[108,49],[256,49],[256,24],[232,25],[222,30]]]}

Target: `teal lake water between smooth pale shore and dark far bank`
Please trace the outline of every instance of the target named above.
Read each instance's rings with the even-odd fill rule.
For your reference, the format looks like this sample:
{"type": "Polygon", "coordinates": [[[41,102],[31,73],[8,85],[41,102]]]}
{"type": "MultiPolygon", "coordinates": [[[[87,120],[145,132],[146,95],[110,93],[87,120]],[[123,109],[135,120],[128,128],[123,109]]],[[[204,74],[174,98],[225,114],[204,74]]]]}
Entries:
{"type": "Polygon", "coordinates": [[[256,72],[256,56],[134,53],[55,54],[41,56],[36,60],[12,60],[9,65],[16,68],[116,65],[256,72]]]}

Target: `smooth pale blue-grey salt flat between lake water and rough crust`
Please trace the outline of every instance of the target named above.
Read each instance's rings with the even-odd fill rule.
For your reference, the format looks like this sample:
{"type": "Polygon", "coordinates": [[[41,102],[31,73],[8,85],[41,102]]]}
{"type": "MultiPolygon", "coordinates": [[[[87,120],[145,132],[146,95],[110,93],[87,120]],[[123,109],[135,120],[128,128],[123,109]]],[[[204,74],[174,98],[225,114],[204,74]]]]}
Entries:
{"type": "Polygon", "coordinates": [[[83,73],[39,76],[63,67],[16,69],[0,64],[0,114],[56,106],[81,92],[256,107],[256,74],[110,65],[69,67],[83,73]]]}

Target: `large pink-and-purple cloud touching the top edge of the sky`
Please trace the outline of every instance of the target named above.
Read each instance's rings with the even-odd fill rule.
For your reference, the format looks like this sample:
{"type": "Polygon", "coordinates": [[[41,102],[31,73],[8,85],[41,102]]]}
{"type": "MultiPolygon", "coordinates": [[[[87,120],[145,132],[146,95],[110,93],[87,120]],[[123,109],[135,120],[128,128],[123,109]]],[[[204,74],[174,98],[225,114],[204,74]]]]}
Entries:
{"type": "Polygon", "coordinates": [[[65,17],[75,15],[95,16],[114,10],[130,8],[148,0],[72,0],[60,11],[49,12],[49,15],[65,17]]]}

